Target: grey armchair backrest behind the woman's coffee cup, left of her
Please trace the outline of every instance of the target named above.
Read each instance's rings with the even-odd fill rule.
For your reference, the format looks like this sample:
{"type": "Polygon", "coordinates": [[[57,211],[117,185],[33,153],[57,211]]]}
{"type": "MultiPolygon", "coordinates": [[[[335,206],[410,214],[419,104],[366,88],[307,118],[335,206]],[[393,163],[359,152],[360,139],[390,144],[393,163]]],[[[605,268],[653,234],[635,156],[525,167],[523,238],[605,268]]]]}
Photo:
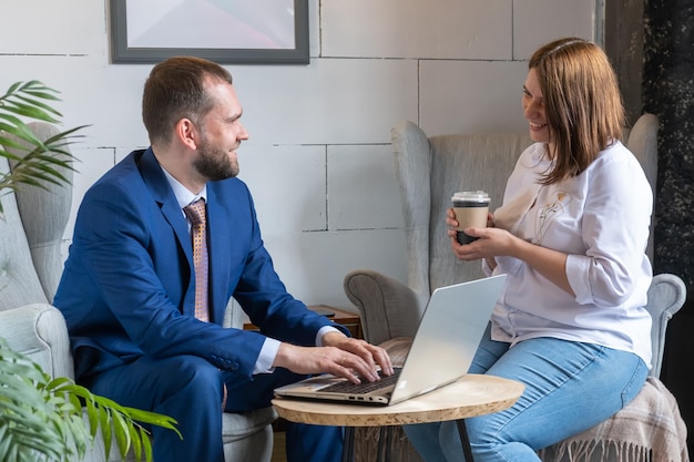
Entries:
{"type": "Polygon", "coordinates": [[[408,286],[423,307],[433,289],[482,277],[479,261],[459,261],[446,235],[446,209],[457,191],[482,189],[490,209],[501,205],[506,182],[527,133],[453,134],[427,137],[412,122],[391,131],[408,255],[408,286]]]}

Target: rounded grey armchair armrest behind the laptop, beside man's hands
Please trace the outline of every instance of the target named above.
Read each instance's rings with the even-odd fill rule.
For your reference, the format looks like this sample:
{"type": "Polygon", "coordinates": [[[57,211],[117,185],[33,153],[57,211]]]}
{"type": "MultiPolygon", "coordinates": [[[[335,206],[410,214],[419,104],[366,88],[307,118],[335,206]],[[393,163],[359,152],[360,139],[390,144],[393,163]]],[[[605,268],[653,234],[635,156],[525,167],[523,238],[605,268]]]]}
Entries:
{"type": "Polygon", "coordinates": [[[405,284],[369,269],[345,276],[345,294],[359,310],[365,338],[378,345],[396,337],[414,337],[422,309],[405,284]]]}

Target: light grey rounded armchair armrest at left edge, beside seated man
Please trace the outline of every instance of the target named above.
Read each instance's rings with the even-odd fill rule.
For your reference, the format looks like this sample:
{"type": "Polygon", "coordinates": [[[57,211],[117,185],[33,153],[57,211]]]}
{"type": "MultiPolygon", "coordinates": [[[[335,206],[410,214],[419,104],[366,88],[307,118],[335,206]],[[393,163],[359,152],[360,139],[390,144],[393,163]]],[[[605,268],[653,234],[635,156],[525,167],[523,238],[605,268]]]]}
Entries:
{"type": "Polygon", "coordinates": [[[51,377],[74,379],[68,327],[57,308],[32,304],[0,311],[0,337],[51,377]]]}

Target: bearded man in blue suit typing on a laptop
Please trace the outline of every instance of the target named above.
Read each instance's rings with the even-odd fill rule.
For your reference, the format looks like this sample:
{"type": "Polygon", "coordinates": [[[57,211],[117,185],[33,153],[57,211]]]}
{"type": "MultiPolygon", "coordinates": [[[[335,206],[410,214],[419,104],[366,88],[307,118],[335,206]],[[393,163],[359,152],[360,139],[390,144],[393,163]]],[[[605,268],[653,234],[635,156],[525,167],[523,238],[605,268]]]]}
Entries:
{"type": "MultiPolygon", "coordinates": [[[[231,74],[172,58],[152,69],[142,106],[151,147],[84,195],[54,305],[80,382],[178,421],[183,441],[153,429],[156,461],[223,462],[222,409],[266,407],[276,387],[305,374],[372,381],[377,365],[392,369],[385,350],[307,309],[273,269],[251,194],[236,178],[236,150],[248,134],[231,74]],[[203,319],[195,283],[205,275],[195,274],[184,213],[200,198],[210,268],[203,319]],[[222,327],[231,297],[259,333],[222,327]]],[[[340,430],[288,423],[288,460],[339,459],[340,430]]]]}

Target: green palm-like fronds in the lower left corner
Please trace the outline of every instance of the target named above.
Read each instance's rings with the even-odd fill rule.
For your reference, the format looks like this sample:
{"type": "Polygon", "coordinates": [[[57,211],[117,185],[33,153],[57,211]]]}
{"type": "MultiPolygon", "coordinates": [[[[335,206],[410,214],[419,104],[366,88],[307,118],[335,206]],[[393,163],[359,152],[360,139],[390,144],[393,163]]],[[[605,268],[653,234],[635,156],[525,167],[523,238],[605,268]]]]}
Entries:
{"type": "Polygon", "coordinates": [[[81,460],[99,430],[106,454],[114,438],[122,458],[132,450],[137,461],[151,461],[143,424],[181,435],[170,417],[122,407],[67,378],[51,379],[0,338],[0,461],[81,460]]]}

